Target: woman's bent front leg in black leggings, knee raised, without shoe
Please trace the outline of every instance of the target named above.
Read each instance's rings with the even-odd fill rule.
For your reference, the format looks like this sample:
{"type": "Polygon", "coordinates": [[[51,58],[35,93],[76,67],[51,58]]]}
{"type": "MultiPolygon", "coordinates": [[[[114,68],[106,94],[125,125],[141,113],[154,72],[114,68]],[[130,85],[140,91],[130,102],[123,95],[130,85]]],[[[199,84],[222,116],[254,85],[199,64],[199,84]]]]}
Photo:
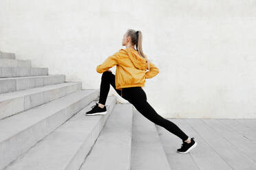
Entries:
{"type": "Polygon", "coordinates": [[[111,73],[110,71],[105,71],[101,75],[100,99],[98,101],[99,104],[105,105],[106,100],[107,100],[107,95],[109,94],[110,84],[116,90],[118,95],[121,95],[121,90],[116,89],[115,75],[113,73],[111,73]]]}

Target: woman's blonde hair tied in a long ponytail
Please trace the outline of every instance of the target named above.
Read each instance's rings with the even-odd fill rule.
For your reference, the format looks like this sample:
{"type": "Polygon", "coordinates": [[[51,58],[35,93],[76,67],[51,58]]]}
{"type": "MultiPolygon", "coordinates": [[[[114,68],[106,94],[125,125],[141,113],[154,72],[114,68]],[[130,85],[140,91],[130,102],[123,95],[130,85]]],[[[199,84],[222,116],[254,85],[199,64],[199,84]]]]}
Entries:
{"type": "Polygon", "coordinates": [[[136,49],[137,49],[139,55],[142,58],[145,58],[147,60],[147,67],[150,69],[150,67],[149,67],[150,61],[148,60],[147,56],[142,51],[142,32],[140,32],[139,30],[135,31],[134,29],[128,29],[127,36],[131,37],[131,43],[133,45],[136,45],[136,49]]]}

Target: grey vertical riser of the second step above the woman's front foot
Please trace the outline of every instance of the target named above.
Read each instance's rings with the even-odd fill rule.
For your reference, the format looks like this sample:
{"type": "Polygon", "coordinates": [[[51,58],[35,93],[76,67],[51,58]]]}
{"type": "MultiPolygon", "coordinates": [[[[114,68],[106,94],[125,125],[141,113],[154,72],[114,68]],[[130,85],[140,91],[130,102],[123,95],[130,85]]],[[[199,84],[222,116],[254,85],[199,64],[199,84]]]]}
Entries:
{"type": "Polygon", "coordinates": [[[74,84],[72,86],[64,86],[53,90],[34,93],[32,95],[25,95],[6,101],[0,101],[0,119],[10,117],[13,114],[17,114],[18,112],[28,110],[41,104],[46,104],[49,101],[74,93],[77,90],[81,90],[81,88],[82,84],[81,82],[78,82],[78,84],[74,84]]]}

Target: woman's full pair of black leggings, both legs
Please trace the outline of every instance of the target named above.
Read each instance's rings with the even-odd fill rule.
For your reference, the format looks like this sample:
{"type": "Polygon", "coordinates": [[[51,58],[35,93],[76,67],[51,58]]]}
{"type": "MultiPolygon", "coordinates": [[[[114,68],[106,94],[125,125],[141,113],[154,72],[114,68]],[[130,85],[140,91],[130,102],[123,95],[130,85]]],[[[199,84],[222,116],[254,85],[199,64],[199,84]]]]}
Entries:
{"type": "MultiPolygon", "coordinates": [[[[105,105],[107,95],[109,93],[110,84],[116,90],[118,95],[121,95],[121,90],[116,89],[115,75],[109,71],[105,71],[101,76],[100,99],[98,101],[99,104],[105,105]]],[[[189,136],[186,136],[186,134],[182,130],[180,130],[177,125],[175,125],[175,123],[161,117],[150,106],[150,104],[147,102],[147,95],[140,86],[122,88],[122,98],[129,101],[129,103],[132,104],[144,117],[146,117],[153,123],[164,127],[169,132],[181,138],[182,141],[186,141],[186,139],[189,138],[189,136]]]]}

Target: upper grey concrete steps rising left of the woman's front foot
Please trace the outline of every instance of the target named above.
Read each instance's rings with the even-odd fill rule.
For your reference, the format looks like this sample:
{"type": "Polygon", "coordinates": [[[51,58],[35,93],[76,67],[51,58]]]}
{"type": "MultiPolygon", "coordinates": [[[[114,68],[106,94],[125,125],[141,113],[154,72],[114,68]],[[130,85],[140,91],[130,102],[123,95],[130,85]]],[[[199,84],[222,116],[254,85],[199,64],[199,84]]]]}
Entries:
{"type": "Polygon", "coordinates": [[[98,89],[83,90],[81,82],[48,75],[47,68],[15,60],[14,53],[1,52],[0,75],[0,169],[98,97],[98,89]]]}

